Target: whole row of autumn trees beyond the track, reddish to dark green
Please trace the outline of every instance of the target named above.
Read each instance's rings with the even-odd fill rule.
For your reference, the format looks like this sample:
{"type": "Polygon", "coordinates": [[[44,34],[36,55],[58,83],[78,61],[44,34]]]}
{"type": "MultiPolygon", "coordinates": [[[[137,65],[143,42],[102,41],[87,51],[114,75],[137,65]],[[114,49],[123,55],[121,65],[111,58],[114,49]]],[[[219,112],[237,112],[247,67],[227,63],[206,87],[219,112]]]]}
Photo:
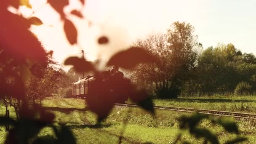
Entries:
{"type": "Polygon", "coordinates": [[[255,93],[255,55],[242,53],[232,43],[203,49],[194,32],[191,24],[176,21],[165,33],[135,40],[133,44],[152,53],[157,63],[139,64],[129,77],[159,98],[255,93]]]}

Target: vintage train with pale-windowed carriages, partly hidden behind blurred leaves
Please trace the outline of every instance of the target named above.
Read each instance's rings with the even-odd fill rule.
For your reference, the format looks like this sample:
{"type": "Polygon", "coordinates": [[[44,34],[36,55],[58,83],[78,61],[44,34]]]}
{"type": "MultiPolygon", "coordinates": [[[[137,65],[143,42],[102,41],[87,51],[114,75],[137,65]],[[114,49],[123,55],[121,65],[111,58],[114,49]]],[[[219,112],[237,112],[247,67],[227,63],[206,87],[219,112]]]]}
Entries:
{"type": "Polygon", "coordinates": [[[111,77],[121,77],[123,78],[123,72],[119,71],[118,67],[113,67],[112,69],[108,69],[108,71],[104,71],[101,73],[101,75],[98,76],[86,76],[74,83],[72,83],[72,97],[75,98],[87,98],[87,96],[90,94],[90,90],[93,88],[94,81],[101,77],[101,80],[107,81],[111,77]]]}

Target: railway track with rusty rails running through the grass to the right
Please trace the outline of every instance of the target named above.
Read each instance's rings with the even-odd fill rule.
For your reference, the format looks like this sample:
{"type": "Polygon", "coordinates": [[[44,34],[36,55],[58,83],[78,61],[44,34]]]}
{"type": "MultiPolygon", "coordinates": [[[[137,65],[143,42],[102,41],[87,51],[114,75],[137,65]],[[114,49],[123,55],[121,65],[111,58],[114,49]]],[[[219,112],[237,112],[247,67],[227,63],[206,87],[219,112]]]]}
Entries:
{"type": "MultiPolygon", "coordinates": [[[[115,105],[122,106],[122,107],[140,107],[139,105],[136,105],[136,104],[115,104],[115,105]]],[[[209,110],[209,109],[193,109],[193,108],[166,107],[166,106],[154,106],[154,108],[177,111],[177,112],[187,112],[187,113],[198,112],[198,113],[207,114],[207,115],[216,115],[216,116],[234,117],[234,118],[238,118],[238,119],[254,119],[254,120],[256,120],[256,114],[250,114],[250,113],[226,112],[226,111],[209,110]]]]}

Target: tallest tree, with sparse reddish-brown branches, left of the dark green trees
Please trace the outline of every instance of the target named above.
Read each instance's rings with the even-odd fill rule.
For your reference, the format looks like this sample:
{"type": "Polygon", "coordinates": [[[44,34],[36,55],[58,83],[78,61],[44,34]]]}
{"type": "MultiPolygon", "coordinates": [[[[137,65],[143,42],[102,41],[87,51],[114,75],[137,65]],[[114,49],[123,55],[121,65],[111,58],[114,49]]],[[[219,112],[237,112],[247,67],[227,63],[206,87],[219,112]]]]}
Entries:
{"type": "Polygon", "coordinates": [[[179,94],[181,80],[195,67],[197,37],[194,27],[185,22],[174,22],[166,34],[154,33],[137,39],[134,44],[157,58],[156,64],[140,64],[132,79],[144,85],[154,85],[157,96],[168,98],[179,94]]]}

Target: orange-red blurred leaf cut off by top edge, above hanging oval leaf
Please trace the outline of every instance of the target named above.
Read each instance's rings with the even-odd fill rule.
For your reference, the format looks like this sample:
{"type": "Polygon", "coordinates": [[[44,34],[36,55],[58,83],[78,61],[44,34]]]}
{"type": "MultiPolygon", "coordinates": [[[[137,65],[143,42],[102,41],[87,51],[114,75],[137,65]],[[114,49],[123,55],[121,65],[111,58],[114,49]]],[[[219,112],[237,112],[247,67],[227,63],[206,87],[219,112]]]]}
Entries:
{"type": "Polygon", "coordinates": [[[61,19],[64,19],[63,8],[69,5],[69,0],[48,0],[48,3],[60,14],[61,19]]]}

